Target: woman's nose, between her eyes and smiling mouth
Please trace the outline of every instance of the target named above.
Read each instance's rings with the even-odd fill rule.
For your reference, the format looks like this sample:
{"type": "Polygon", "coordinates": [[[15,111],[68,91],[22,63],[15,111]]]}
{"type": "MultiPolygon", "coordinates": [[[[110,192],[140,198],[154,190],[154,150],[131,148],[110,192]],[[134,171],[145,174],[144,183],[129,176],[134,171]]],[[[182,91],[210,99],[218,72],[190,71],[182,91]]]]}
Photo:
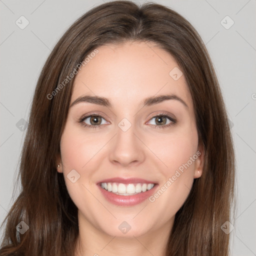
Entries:
{"type": "Polygon", "coordinates": [[[140,164],[145,159],[146,148],[142,136],[136,132],[134,125],[126,131],[120,127],[117,126],[117,134],[112,139],[109,160],[123,167],[140,164]]]}

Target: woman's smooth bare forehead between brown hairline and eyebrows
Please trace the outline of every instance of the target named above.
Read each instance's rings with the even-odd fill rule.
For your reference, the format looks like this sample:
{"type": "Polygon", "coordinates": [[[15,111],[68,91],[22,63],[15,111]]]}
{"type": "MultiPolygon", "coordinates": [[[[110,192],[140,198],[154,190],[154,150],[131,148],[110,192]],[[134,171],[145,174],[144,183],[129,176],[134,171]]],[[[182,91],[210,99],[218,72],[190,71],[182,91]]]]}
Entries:
{"type": "Polygon", "coordinates": [[[175,94],[192,110],[185,77],[180,76],[180,67],[167,51],[137,41],[103,45],[97,50],[76,74],[71,102],[89,94],[107,97],[113,104],[136,105],[148,96],[175,94]]]}

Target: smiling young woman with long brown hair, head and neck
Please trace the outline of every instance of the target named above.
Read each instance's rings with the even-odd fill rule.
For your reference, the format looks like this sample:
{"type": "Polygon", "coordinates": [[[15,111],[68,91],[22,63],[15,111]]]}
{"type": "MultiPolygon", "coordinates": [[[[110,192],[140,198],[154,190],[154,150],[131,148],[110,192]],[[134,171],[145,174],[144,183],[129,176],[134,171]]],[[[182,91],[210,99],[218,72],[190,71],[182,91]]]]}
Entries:
{"type": "Polygon", "coordinates": [[[20,177],[1,256],[228,255],[232,138],[191,24],[130,1],[75,21],[39,76],[20,177]]]}

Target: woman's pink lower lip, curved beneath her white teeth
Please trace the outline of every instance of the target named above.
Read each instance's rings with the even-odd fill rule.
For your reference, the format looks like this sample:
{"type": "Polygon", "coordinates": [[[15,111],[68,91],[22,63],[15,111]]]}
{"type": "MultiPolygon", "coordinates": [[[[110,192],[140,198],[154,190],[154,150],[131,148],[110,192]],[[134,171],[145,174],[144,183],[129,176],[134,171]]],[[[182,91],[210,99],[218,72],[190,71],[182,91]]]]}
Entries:
{"type": "Polygon", "coordinates": [[[104,195],[106,200],[112,204],[120,206],[132,206],[144,201],[146,198],[153,194],[157,186],[158,184],[155,184],[150,190],[146,190],[145,192],[137,193],[134,195],[119,195],[105,190],[101,187],[100,184],[98,185],[99,190],[104,195]]]}

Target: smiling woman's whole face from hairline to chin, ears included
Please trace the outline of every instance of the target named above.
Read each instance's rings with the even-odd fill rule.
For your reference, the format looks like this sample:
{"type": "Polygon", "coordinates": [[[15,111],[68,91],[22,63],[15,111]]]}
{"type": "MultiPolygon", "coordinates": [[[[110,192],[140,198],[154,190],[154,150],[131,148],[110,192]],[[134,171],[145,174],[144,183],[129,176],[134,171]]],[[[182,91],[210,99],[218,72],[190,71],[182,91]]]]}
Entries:
{"type": "Polygon", "coordinates": [[[79,226],[126,237],[169,230],[202,171],[186,80],[152,43],[97,50],[75,77],[60,142],[79,226]]]}

